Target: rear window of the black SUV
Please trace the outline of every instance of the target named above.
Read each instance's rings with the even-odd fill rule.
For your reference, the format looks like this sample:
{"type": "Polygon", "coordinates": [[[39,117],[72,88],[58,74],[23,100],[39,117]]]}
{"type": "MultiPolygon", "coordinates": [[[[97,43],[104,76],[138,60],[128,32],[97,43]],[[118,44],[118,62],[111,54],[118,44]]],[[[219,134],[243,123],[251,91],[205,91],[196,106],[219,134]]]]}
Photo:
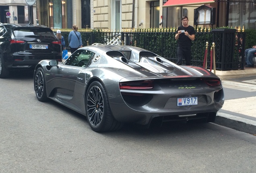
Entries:
{"type": "Polygon", "coordinates": [[[15,28],[13,30],[15,37],[32,37],[32,38],[56,38],[50,28],[15,28]]]}

